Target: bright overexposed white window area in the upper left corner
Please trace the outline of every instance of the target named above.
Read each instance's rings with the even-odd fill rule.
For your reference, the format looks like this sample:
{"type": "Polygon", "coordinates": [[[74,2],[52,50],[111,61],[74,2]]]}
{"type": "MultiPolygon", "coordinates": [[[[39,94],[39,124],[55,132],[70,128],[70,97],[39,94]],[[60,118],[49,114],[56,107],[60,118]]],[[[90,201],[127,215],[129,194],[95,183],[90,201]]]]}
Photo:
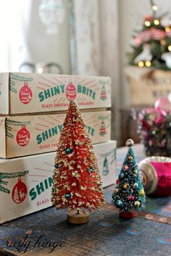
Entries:
{"type": "Polygon", "coordinates": [[[17,72],[25,49],[30,0],[1,1],[0,72],[17,72]]]}

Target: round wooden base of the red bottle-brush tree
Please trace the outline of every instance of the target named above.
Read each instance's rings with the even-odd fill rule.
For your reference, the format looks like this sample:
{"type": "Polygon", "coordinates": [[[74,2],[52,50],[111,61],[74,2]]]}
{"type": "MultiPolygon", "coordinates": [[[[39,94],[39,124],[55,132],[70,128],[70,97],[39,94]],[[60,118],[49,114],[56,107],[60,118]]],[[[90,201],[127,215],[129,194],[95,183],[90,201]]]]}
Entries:
{"type": "Polygon", "coordinates": [[[72,224],[84,224],[89,221],[89,216],[90,214],[83,210],[80,210],[79,213],[77,210],[71,210],[67,213],[67,221],[72,224]]]}

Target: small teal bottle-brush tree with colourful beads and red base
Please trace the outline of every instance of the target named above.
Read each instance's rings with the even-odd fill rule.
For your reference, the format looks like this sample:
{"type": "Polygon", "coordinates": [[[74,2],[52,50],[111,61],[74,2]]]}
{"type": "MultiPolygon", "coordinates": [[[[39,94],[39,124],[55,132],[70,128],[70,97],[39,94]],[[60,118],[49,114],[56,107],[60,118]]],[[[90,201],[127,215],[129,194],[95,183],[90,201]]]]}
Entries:
{"type": "Polygon", "coordinates": [[[128,139],[128,154],[122,164],[117,186],[112,194],[112,202],[120,209],[120,217],[133,218],[144,207],[146,196],[139,178],[138,165],[133,152],[133,140],[128,139]]]}

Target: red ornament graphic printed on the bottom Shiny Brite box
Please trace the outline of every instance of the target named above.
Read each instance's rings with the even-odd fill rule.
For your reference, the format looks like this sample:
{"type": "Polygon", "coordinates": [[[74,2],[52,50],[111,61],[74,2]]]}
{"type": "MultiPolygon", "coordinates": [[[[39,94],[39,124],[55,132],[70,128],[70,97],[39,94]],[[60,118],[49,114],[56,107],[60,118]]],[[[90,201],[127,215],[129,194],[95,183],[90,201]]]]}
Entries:
{"type": "Polygon", "coordinates": [[[20,204],[27,196],[27,191],[28,189],[27,186],[25,186],[25,183],[22,182],[21,178],[18,178],[17,184],[12,189],[12,200],[16,204],[20,204]]]}

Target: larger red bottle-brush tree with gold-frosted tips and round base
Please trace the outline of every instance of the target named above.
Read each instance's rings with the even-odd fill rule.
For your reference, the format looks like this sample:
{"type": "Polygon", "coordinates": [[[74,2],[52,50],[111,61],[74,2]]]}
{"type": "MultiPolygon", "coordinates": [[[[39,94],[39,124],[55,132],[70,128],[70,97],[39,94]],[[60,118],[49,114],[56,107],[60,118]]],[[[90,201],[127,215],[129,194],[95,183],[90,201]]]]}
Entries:
{"type": "Polygon", "coordinates": [[[86,223],[89,213],[104,206],[101,178],[86,124],[71,101],[59,138],[53,177],[52,203],[68,207],[70,223],[86,223]]]}

